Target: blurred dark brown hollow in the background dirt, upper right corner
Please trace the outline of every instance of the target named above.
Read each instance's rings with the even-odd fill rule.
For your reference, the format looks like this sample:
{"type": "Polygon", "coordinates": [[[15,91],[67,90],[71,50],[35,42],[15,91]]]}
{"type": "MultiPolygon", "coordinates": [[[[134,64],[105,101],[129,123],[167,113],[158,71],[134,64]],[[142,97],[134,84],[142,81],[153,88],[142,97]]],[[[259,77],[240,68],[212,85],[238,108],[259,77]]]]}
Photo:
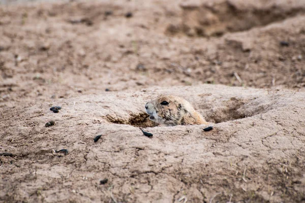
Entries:
{"type": "Polygon", "coordinates": [[[189,37],[221,37],[226,32],[249,30],[305,13],[304,8],[281,6],[241,6],[232,1],[220,1],[213,6],[181,4],[181,22],[169,24],[166,33],[184,33],[189,37]]]}

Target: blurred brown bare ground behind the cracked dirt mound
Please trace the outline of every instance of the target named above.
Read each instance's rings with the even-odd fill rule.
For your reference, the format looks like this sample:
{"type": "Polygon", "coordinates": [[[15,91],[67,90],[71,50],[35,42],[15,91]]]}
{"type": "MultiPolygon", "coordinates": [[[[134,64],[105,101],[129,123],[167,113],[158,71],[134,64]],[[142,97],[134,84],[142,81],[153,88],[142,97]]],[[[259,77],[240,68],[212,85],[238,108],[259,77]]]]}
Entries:
{"type": "Polygon", "coordinates": [[[2,108],[150,86],[304,90],[304,0],[0,2],[2,108]]]}

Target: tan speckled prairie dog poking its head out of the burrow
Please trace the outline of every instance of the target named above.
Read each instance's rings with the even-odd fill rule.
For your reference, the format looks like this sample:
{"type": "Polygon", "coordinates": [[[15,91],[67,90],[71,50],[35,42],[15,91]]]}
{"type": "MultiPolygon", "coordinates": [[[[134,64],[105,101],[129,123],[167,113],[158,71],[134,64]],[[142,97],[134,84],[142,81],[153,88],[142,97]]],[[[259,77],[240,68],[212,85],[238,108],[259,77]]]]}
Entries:
{"type": "Polygon", "coordinates": [[[165,126],[208,124],[187,100],[178,96],[160,95],[149,101],[145,109],[151,121],[165,126]],[[168,105],[162,105],[163,101],[168,105]]]}

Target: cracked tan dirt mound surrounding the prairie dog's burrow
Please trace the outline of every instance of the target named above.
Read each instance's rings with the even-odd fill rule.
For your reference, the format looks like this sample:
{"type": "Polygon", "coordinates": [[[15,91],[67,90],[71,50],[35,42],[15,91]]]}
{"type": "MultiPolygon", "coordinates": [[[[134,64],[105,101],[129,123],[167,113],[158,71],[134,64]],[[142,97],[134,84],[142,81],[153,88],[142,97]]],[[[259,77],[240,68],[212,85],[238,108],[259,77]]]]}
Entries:
{"type": "Polygon", "coordinates": [[[14,157],[1,157],[0,197],[224,202],[233,195],[235,202],[301,201],[304,98],[290,91],[204,85],[57,99],[2,112],[1,152],[14,157]],[[153,138],[143,136],[133,125],[145,125],[135,118],[144,115],[146,100],[167,92],[189,98],[207,120],[221,123],[209,132],[201,125],[157,126],[145,128],[153,138]],[[59,113],[49,110],[54,105],[62,106],[59,113]],[[232,120],[238,117],[245,118],[232,120]],[[50,120],[55,125],[45,127],[50,120]],[[60,149],[69,153],[54,153],[60,149]]]}

